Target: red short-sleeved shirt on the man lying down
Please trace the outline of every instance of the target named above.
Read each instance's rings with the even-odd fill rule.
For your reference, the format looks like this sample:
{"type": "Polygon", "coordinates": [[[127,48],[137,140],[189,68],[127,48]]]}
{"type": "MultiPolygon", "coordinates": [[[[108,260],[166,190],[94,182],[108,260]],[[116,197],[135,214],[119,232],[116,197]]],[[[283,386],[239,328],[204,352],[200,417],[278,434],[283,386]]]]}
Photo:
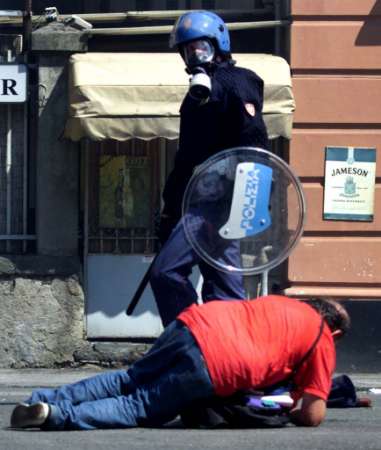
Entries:
{"type": "MultiPolygon", "coordinates": [[[[178,319],[195,337],[221,396],[285,379],[312,346],[321,324],[311,306],[275,295],[193,305],[178,319]]],[[[310,393],[326,400],[335,362],[331,331],[324,324],[317,346],[294,377],[294,397],[310,393]]]]}

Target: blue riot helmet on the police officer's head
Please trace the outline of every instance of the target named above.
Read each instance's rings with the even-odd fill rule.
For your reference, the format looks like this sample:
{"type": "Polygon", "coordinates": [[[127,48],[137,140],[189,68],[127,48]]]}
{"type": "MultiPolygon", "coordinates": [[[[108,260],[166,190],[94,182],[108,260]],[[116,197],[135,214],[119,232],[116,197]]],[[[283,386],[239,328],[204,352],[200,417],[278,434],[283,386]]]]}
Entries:
{"type": "Polygon", "coordinates": [[[229,31],[221,19],[210,11],[191,11],[180,16],[169,39],[170,48],[189,41],[209,38],[221,54],[230,53],[229,31]]]}

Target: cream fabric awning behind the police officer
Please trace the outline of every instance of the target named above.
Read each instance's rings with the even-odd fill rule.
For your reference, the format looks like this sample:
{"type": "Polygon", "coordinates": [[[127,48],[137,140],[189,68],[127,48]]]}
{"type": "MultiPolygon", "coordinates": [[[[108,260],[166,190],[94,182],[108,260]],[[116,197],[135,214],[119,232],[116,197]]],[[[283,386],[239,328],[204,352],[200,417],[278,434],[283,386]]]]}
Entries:
{"type": "MultiPolygon", "coordinates": [[[[235,54],[265,82],[270,138],[290,138],[295,108],[290,68],[277,56],[235,54]]],[[[64,136],[119,141],[176,139],[189,75],[175,53],[81,53],[70,58],[69,117],[64,136]]]]}

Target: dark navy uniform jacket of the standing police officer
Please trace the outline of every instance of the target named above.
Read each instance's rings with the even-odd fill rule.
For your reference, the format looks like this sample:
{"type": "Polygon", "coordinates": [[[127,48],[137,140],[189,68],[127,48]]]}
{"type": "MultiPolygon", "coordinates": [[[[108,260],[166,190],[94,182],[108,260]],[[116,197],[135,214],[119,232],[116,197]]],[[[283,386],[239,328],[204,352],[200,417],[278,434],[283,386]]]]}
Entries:
{"type": "Polygon", "coordinates": [[[200,104],[186,95],[180,108],[175,166],[163,193],[163,214],[176,220],[181,217],[182,198],[192,172],[210,156],[238,146],[268,148],[262,107],[262,79],[230,63],[220,64],[214,71],[207,102],[200,104]]]}

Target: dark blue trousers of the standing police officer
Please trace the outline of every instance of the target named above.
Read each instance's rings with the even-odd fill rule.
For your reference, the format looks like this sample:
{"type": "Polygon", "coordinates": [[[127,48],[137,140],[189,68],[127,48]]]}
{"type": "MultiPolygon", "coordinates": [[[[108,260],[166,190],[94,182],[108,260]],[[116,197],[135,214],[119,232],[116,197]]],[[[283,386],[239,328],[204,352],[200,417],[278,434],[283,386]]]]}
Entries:
{"type": "MultiPolygon", "coordinates": [[[[204,279],[202,286],[204,302],[245,299],[242,275],[222,272],[203,261],[188,242],[182,222],[180,220],[173,229],[151,269],[150,283],[164,326],[175,320],[186,307],[197,303],[196,290],[189,280],[192,268],[196,265],[204,279]]],[[[194,222],[197,226],[197,217],[194,222]]],[[[200,219],[200,228],[195,232],[200,234],[203,242],[210,242],[213,247],[215,236],[213,232],[210,236],[205,236],[205,233],[208,233],[205,225],[205,220],[200,219]]],[[[212,248],[209,250],[213,252],[212,248]]],[[[232,266],[240,264],[237,243],[227,241],[226,247],[219,249],[219,257],[225,264],[232,266]]]]}

